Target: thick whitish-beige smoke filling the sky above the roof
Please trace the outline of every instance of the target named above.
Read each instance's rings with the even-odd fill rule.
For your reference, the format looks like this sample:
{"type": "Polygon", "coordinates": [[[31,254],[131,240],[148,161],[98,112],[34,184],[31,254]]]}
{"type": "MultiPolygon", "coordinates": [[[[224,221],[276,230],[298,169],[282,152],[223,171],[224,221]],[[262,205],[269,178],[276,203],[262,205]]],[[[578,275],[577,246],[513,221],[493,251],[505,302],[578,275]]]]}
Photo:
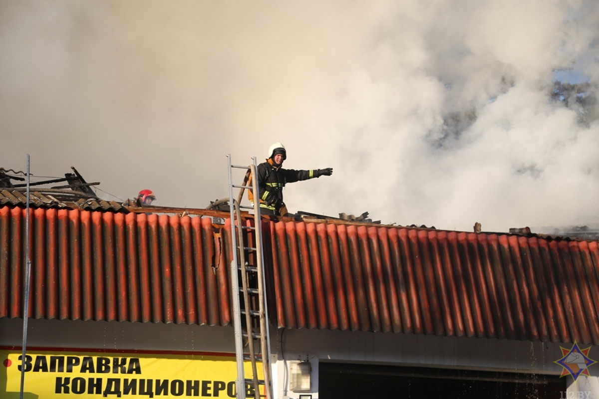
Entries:
{"type": "MultiPolygon", "coordinates": [[[[334,167],[290,211],[485,231],[597,221],[599,3],[0,1],[0,166],[204,208],[226,157],[334,167]],[[583,113],[586,112],[586,113],[583,113]]],[[[112,199],[101,191],[102,197],[112,199]]]]}

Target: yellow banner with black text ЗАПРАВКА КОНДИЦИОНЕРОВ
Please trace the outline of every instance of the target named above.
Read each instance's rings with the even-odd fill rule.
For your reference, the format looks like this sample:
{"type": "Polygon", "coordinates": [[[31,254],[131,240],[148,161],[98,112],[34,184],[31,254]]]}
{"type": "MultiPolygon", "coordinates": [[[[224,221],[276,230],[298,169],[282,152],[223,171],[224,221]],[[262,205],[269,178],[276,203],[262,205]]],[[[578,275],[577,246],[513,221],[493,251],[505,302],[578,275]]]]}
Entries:
{"type": "MultiPolygon", "coordinates": [[[[22,353],[0,350],[0,360],[0,398],[18,399],[22,353]]],[[[245,362],[246,377],[251,367],[245,362]]],[[[263,371],[258,367],[259,379],[263,371]]],[[[36,350],[25,356],[23,398],[233,398],[236,378],[233,354],[36,350]]]]}

